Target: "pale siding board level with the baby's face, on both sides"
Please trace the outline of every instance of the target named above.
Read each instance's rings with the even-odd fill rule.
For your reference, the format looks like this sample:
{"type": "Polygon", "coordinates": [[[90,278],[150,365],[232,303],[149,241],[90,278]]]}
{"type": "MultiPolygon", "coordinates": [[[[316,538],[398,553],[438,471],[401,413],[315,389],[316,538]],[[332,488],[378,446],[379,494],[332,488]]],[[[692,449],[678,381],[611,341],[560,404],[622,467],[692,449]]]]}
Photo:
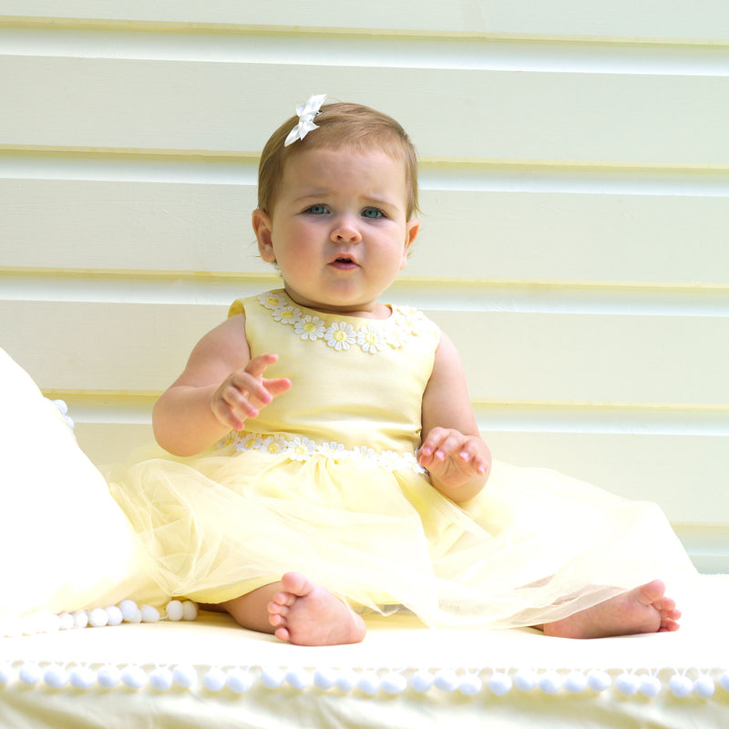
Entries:
{"type": "MultiPolygon", "coordinates": [[[[136,167],[139,179],[114,180],[129,165],[0,158],[0,264],[36,268],[43,241],[46,269],[268,271],[252,245],[251,162],[136,167]]],[[[543,170],[524,181],[521,167],[475,168],[426,165],[407,275],[729,284],[729,171],[543,170]]]]}

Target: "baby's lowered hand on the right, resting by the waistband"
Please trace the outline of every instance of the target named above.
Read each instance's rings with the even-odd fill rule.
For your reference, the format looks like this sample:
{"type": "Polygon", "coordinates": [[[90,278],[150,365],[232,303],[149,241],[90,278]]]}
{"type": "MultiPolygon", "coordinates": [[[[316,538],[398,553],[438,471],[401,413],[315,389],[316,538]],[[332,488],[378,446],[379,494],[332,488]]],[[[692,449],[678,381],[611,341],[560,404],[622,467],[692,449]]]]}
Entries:
{"type": "Polygon", "coordinates": [[[434,427],[418,449],[417,460],[430,471],[433,485],[457,501],[463,499],[457,498],[455,492],[451,494],[450,489],[478,482],[480,490],[491,468],[486,443],[479,436],[465,436],[454,428],[434,427]]]}

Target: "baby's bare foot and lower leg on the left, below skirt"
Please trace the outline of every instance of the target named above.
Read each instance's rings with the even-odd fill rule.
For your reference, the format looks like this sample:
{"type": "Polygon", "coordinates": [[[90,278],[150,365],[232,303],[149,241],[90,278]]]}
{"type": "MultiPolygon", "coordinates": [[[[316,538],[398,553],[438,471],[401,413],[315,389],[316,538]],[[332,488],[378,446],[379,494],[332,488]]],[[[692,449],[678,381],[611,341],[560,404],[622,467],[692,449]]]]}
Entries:
{"type": "Polygon", "coordinates": [[[296,572],[221,603],[244,628],[298,645],[342,645],[364,639],[364,621],[328,590],[296,572]]]}

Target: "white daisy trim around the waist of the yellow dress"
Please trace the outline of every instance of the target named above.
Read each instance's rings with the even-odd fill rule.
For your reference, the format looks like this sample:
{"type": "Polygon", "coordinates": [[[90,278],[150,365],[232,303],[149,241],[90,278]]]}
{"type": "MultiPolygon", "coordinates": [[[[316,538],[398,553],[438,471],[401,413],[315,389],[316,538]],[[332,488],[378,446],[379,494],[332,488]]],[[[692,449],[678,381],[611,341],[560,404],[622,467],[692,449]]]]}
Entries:
{"type": "Polygon", "coordinates": [[[235,446],[238,451],[256,450],[273,455],[286,456],[294,461],[306,461],[313,457],[329,458],[337,463],[347,460],[364,459],[375,463],[388,471],[408,469],[416,473],[426,474],[427,471],[416,459],[415,453],[381,450],[358,446],[346,448],[343,443],[330,441],[316,443],[310,438],[296,436],[262,436],[259,433],[246,431],[232,431],[231,434],[218,443],[218,447],[235,446]]]}

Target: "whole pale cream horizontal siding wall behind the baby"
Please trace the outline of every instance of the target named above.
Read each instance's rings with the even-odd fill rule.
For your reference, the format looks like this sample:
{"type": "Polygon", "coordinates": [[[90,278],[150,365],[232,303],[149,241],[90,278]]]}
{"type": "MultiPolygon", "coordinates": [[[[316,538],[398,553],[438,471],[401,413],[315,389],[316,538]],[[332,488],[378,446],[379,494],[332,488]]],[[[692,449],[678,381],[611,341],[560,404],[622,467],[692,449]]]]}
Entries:
{"type": "Polygon", "coordinates": [[[93,460],[149,441],[192,344],[277,285],[258,154],[327,92],[416,142],[387,298],[456,341],[495,456],[657,500],[729,571],[724,0],[62,5],[0,0],[0,345],[93,460]]]}

